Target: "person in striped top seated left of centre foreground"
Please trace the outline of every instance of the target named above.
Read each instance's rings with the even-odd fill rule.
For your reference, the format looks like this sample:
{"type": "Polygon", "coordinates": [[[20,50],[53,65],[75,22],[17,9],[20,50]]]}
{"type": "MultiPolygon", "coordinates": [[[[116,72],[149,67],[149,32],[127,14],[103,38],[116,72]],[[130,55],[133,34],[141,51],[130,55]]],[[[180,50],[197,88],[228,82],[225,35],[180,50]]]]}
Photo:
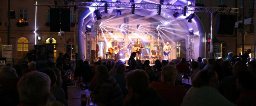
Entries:
{"type": "Polygon", "coordinates": [[[98,83],[93,89],[94,102],[105,106],[121,106],[124,100],[121,88],[115,78],[108,75],[107,67],[98,65],[95,71],[98,83]]]}

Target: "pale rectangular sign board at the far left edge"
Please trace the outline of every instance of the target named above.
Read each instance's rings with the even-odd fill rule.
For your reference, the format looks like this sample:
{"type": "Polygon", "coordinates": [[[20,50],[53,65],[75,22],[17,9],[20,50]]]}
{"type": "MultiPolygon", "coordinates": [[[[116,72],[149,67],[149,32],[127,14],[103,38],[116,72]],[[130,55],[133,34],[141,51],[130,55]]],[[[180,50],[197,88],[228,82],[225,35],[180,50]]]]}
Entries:
{"type": "Polygon", "coordinates": [[[6,57],[6,64],[12,64],[12,45],[2,45],[2,57],[6,57]]]}

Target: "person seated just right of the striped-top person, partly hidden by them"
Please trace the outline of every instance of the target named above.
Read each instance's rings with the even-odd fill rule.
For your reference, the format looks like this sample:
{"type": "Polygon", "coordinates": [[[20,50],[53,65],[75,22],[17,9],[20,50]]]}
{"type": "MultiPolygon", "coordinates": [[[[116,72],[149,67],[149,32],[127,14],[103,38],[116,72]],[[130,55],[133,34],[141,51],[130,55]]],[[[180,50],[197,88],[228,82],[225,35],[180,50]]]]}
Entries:
{"type": "Polygon", "coordinates": [[[125,70],[126,70],[125,64],[119,64],[117,67],[116,73],[113,75],[113,77],[116,79],[116,82],[121,87],[124,98],[128,94],[128,90],[126,89],[125,70]]]}

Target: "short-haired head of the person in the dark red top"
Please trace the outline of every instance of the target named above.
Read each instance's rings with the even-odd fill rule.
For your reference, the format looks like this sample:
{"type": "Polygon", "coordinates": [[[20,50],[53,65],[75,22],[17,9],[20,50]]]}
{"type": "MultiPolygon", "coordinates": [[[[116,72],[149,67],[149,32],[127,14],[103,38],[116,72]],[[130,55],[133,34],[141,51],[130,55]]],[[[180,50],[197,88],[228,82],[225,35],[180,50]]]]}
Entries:
{"type": "Polygon", "coordinates": [[[176,68],[172,65],[166,65],[165,67],[163,67],[161,81],[173,83],[175,81],[176,75],[177,75],[176,68]]]}

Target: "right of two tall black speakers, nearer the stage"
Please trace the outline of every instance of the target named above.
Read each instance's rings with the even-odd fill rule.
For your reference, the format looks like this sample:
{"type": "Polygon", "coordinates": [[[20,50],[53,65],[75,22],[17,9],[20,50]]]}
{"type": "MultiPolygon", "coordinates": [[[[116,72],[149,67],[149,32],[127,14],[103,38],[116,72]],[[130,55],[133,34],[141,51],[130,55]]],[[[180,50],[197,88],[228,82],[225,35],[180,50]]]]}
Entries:
{"type": "Polygon", "coordinates": [[[61,8],[61,31],[70,31],[70,8],[61,8]]]}

